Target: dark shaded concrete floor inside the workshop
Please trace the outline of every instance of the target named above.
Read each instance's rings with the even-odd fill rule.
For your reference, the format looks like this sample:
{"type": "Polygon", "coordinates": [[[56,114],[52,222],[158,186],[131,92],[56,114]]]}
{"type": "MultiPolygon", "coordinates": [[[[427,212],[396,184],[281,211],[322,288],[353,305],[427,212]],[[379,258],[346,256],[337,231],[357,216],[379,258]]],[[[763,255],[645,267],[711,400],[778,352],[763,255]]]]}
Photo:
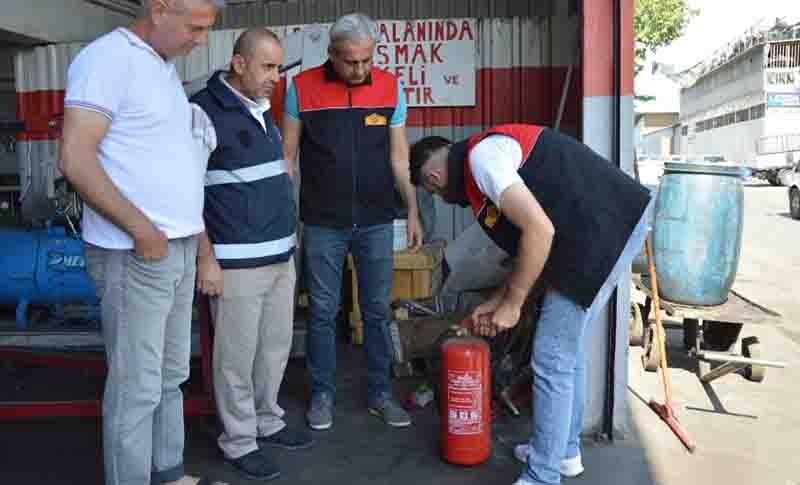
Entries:
{"type": "MultiPolygon", "coordinates": [[[[525,440],[529,415],[500,416],[494,424],[494,447],[489,461],[466,468],[448,465],[439,458],[439,421],[432,405],[413,413],[414,425],[389,429],[364,407],[365,373],[362,354],[349,344],[340,346],[339,402],[334,428],[315,433],[311,450],[274,453],[282,468],[275,483],[292,484],[511,484],[521,465],[514,461],[512,447],[525,440]]],[[[13,381],[5,374],[4,392],[16,388],[14,399],[41,394],[60,398],[84,396],[100,391],[97,378],[80,371],[23,372],[13,381]],[[58,381],[55,386],[49,382],[58,381]],[[16,385],[22,385],[19,389],[16,385]],[[47,385],[48,388],[43,386],[47,385]]],[[[405,395],[417,383],[401,380],[398,395],[405,395]]],[[[307,390],[302,361],[290,364],[281,396],[292,424],[302,425],[307,390]]],[[[655,421],[654,421],[655,422],[655,421]]],[[[216,424],[206,418],[186,422],[186,466],[231,485],[252,483],[228,468],[216,449],[216,424]]],[[[614,446],[591,440],[585,447],[585,479],[575,483],[652,483],[645,450],[630,436],[614,446]],[[598,481],[599,480],[599,481],[598,481]]],[[[102,483],[101,430],[96,419],[58,419],[3,423],[0,425],[0,483],[2,484],[100,484],[102,483]],[[43,464],[46,464],[43,466],[43,464]]]]}

